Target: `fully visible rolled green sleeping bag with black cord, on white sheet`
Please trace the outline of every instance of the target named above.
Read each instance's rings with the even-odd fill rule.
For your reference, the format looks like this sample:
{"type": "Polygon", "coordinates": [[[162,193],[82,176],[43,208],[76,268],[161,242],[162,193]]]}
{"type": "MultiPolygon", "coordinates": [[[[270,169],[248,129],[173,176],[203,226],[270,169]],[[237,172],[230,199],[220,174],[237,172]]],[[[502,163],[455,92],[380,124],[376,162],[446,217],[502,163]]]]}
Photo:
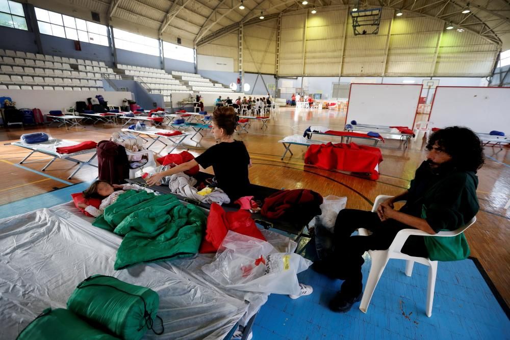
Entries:
{"type": "Polygon", "coordinates": [[[83,280],[67,300],[67,308],[126,339],[138,340],[156,318],[156,292],[115,277],[93,275],[83,280]]]}

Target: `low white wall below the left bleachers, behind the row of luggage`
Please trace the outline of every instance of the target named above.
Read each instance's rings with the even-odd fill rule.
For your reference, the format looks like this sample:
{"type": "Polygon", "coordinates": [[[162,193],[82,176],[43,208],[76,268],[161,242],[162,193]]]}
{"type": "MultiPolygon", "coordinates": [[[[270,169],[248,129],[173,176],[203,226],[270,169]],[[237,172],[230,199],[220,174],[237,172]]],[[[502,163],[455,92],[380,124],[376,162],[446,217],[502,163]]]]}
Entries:
{"type": "Polygon", "coordinates": [[[50,90],[0,90],[0,96],[11,97],[16,108],[40,109],[42,114],[51,110],[74,107],[77,101],[102,95],[109,105],[120,106],[122,99],[132,99],[131,92],[116,91],[50,91],[50,90]]]}

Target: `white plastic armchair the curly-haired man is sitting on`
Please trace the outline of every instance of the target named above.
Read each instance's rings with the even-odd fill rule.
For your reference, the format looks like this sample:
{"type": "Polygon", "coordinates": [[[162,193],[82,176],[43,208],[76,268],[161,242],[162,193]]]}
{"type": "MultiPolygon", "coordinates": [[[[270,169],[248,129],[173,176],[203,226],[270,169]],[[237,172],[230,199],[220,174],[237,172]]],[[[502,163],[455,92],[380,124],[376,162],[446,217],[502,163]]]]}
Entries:
{"type": "MultiPolygon", "coordinates": [[[[374,206],[372,207],[372,212],[377,211],[377,207],[384,202],[386,199],[391,198],[393,196],[387,195],[379,195],[375,198],[374,206]]],[[[360,310],[364,313],[368,310],[368,305],[370,304],[370,300],[372,299],[372,295],[374,293],[375,287],[377,286],[377,282],[384,271],[386,264],[390,258],[398,258],[406,260],[405,264],[405,275],[411,276],[413,273],[414,263],[420,263],[422,265],[428,266],[428,288],[427,288],[427,306],[426,313],[427,317],[430,318],[432,315],[432,302],[434,299],[434,289],[436,286],[436,273],[438,271],[438,261],[431,261],[428,257],[416,257],[410,256],[404,253],[401,253],[400,250],[404,245],[405,241],[411,235],[419,235],[425,237],[452,237],[457,236],[461,232],[464,232],[467,228],[469,228],[473,223],[476,222],[476,217],[473,217],[471,221],[469,221],[465,226],[460,227],[453,231],[440,231],[435,235],[429,234],[428,232],[418,230],[418,229],[402,229],[400,230],[395,239],[391,243],[390,247],[387,250],[369,250],[368,254],[372,258],[372,266],[370,267],[370,272],[368,274],[367,284],[365,286],[365,291],[363,293],[363,297],[361,299],[360,310]]],[[[361,236],[368,236],[369,231],[364,228],[359,228],[358,233],[361,236]]]]}

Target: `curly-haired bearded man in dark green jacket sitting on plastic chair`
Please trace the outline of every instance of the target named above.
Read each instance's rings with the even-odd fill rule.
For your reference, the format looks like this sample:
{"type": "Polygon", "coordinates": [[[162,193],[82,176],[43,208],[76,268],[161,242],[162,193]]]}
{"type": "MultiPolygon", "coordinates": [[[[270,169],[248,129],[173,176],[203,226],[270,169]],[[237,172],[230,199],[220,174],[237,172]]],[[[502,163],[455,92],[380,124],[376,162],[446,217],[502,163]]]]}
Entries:
{"type": "MultiPolygon", "coordinates": [[[[416,170],[408,190],[381,203],[376,213],[344,209],[338,214],[334,249],[328,258],[312,267],[344,280],[340,292],[329,302],[331,310],[346,312],[361,300],[365,251],[388,249],[397,232],[406,228],[429,234],[455,230],[478,212],[476,171],[484,163],[479,138],[466,127],[446,127],[432,134],[426,148],[427,160],[416,170]],[[393,203],[402,200],[405,205],[395,210],[393,203]],[[351,236],[358,228],[368,229],[372,234],[351,236]]],[[[401,251],[431,260],[466,258],[469,247],[464,234],[454,238],[410,236],[401,251]]]]}

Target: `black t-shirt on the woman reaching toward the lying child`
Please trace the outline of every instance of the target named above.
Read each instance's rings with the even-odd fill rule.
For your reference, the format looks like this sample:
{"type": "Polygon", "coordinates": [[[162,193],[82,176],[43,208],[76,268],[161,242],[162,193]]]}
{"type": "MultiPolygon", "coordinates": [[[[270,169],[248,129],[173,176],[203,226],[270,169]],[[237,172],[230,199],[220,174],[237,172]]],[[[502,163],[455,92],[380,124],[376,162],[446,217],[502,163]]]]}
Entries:
{"type": "Polygon", "coordinates": [[[213,167],[218,187],[231,201],[249,195],[248,165],[250,156],[242,141],[221,142],[195,158],[204,169],[213,167]]]}

